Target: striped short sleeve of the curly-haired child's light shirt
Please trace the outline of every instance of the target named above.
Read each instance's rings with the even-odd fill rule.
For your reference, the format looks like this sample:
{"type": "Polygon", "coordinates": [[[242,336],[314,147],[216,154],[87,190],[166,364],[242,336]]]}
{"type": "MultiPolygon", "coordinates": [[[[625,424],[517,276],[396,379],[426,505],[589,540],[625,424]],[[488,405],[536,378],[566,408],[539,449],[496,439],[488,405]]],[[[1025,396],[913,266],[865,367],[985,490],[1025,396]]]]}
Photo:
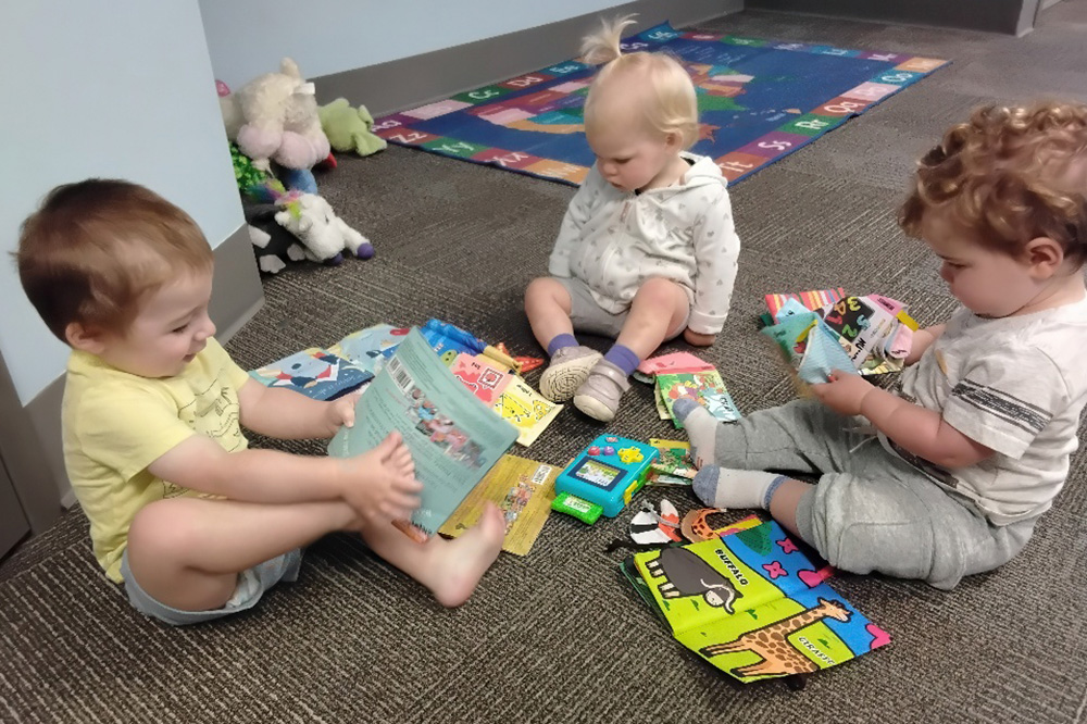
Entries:
{"type": "Polygon", "coordinates": [[[985,447],[1017,459],[1070,402],[1052,360],[1034,349],[1008,350],[964,370],[944,420],[985,447]]]}

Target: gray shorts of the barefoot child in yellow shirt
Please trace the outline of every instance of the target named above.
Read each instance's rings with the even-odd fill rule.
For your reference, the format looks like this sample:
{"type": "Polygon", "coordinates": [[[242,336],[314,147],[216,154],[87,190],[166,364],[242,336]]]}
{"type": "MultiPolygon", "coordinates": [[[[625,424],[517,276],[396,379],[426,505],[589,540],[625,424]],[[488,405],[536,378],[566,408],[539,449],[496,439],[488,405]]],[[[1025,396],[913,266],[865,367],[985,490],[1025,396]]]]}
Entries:
{"type": "Polygon", "coordinates": [[[133,577],[132,569],[128,567],[128,551],[125,550],[121,558],[121,576],[125,579],[125,591],[128,594],[128,602],[143,615],[158,619],[171,626],[187,626],[204,621],[222,619],[239,611],[247,611],[261,600],[264,591],[275,586],[280,581],[292,583],[298,578],[298,570],[302,565],[302,549],[296,548],[283,556],[264,561],[251,569],[242,571],[238,575],[238,587],[234,596],[223,608],[211,611],[182,611],[173,607],[160,603],[140,588],[133,577]]]}

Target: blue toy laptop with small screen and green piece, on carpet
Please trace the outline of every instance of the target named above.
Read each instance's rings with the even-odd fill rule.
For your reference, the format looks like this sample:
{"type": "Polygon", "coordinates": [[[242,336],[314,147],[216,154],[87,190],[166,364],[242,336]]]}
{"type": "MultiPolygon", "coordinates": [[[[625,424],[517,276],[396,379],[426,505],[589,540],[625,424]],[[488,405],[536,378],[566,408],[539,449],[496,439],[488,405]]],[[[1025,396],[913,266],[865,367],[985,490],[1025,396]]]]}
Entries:
{"type": "Polygon", "coordinates": [[[559,474],[551,508],[586,523],[601,514],[615,517],[646,484],[657,448],[614,435],[601,435],[559,474]]]}

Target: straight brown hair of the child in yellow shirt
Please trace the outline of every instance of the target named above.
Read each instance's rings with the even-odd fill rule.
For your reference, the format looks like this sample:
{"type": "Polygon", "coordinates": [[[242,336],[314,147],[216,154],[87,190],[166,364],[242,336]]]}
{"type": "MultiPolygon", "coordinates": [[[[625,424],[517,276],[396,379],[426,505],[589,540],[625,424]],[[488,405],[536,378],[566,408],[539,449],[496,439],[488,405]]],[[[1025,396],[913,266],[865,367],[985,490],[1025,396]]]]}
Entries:
{"type": "Polygon", "coordinates": [[[15,255],[23,290],[65,344],[73,322],[124,334],[145,295],[214,261],[187,213],[148,188],[101,178],[50,191],[23,222],[15,255]]]}

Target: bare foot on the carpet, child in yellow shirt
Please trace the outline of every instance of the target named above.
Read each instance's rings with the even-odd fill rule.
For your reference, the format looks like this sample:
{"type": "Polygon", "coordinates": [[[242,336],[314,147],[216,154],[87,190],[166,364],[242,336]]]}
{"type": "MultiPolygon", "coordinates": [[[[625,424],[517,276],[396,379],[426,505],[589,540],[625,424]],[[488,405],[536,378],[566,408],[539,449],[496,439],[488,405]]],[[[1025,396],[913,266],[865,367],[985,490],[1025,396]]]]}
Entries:
{"type": "Polygon", "coordinates": [[[479,522],[455,540],[434,539],[427,546],[436,548],[430,558],[428,581],[423,581],[434,598],[453,608],[468,600],[479,578],[498,558],[505,539],[505,519],[493,504],[487,503],[479,522]]]}

